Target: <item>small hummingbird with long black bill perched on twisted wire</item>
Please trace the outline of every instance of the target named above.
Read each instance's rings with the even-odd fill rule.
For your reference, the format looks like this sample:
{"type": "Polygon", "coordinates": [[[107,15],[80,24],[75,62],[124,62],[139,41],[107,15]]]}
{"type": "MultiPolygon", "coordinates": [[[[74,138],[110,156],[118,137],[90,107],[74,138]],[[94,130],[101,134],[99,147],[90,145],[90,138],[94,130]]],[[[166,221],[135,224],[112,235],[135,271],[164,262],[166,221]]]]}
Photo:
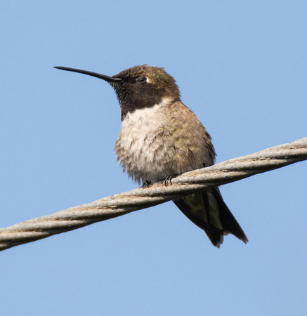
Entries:
{"type": "MultiPolygon", "coordinates": [[[[107,81],[121,108],[122,129],[115,143],[117,162],[143,187],[181,173],[214,164],[211,136],[197,116],[181,102],[174,77],[164,68],[138,65],[112,77],[69,67],[107,81]]],[[[233,234],[245,244],[247,236],[223,201],[218,187],[178,197],[173,202],[218,247],[224,235],[233,234]]]]}

